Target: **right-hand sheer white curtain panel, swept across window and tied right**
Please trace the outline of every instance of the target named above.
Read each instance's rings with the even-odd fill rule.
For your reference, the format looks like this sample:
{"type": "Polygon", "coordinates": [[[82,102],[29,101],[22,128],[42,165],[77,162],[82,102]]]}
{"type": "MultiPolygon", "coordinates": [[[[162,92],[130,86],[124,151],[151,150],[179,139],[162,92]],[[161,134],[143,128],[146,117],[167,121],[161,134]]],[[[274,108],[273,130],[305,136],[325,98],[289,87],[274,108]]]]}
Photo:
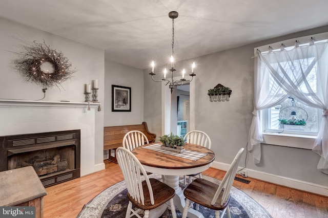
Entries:
{"type": "MultiPolygon", "coordinates": [[[[328,173],[328,42],[309,43],[290,50],[281,49],[261,54],[274,81],[288,95],[309,106],[323,110],[321,126],[313,151],[321,156],[318,169],[328,173]],[[316,85],[310,82],[316,78],[316,85]]],[[[261,73],[265,73],[263,71],[261,73]]],[[[258,84],[255,85],[258,89],[258,84]]],[[[254,104],[255,105],[255,104],[254,104]]],[[[254,113],[253,113],[254,114],[254,113]]],[[[254,120],[254,118],[253,118],[254,120]]]]}

